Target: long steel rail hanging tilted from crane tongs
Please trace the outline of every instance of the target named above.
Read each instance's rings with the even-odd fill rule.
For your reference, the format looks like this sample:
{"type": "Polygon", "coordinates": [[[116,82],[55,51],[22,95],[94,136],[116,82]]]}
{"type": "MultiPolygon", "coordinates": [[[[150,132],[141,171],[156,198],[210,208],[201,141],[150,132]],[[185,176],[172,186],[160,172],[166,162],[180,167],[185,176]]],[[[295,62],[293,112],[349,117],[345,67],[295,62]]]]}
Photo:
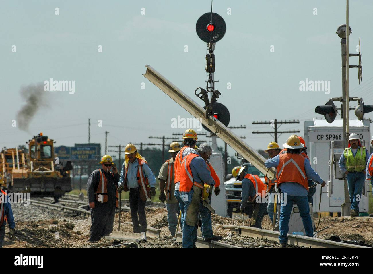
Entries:
{"type": "MultiPolygon", "coordinates": [[[[228,127],[223,125],[219,120],[214,118],[214,116],[209,115],[205,118],[205,109],[198,105],[194,100],[187,96],[183,91],[176,87],[172,82],[167,80],[149,65],[146,65],[146,72],[144,75],[150,82],[156,85],[160,90],[166,93],[171,99],[178,103],[182,108],[187,110],[195,118],[200,119],[202,124],[209,128],[213,133],[215,133],[220,139],[225,141],[229,146],[232,147],[236,152],[241,154],[247,161],[253,164],[259,171],[263,174],[267,174],[268,177],[275,177],[275,169],[271,168],[268,170],[264,166],[264,159],[256,150],[246,144],[241,140],[236,134],[234,134],[228,127]]],[[[225,159],[226,161],[226,159],[225,159]]]]}

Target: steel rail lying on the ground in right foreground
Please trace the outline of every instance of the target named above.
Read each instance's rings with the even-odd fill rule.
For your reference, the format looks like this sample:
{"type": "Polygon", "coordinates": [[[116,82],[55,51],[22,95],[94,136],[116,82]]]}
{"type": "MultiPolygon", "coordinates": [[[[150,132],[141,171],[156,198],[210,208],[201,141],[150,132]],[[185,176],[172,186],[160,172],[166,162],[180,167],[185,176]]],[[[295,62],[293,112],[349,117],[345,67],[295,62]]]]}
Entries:
{"type": "MultiPolygon", "coordinates": [[[[223,228],[229,229],[236,234],[243,236],[258,237],[278,242],[280,233],[278,231],[265,230],[247,226],[223,225],[223,228]]],[[[310,248],[371,248],[366,246],[352,245],[350,243],[339,243],[330,240],[311,238],[301,235],[288,234],[288,244],[305,246],[310,248]]]]}

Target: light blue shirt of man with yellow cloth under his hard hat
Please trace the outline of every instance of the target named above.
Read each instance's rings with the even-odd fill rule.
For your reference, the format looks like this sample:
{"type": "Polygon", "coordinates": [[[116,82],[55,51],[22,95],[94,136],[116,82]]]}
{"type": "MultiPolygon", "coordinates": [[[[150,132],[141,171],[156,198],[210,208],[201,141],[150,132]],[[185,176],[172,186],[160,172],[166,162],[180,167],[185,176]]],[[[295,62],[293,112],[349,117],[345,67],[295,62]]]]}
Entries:
{"type": "MultiPolygon", "coordinates": [[[[139,187],[139,183],[137,180],[138,166],[139,166],[139,163],[137,159],[133,163],[128,161],[128,165],[127,165],[128,172],[127,172],[126,183],[129,189],[134,189],[136,187],[139,187]]],[[[142,164],[142,173],[144,174],[144,178],[145,177],[148,178],[150,187],[156,187],[156,177],[154,176],[150,167],[145,162],[144,164],[142,164]]],[[[122,171],[120,172],[119,184],[123,183],[125,174],[126,174],[126,168],[123,162],[122,171]]]]}

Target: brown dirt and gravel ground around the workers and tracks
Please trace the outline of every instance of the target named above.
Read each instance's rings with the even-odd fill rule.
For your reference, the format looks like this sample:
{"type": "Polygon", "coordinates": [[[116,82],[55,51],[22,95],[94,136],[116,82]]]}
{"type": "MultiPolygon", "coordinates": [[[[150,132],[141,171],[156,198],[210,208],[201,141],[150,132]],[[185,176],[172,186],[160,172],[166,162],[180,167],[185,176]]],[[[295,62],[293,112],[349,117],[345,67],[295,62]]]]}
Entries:
{"type": "MultiPolygon", "coordinates": [[[[13,206],[13,205],[12,205],[13,206]]],[[[12,247],[98,247],[97,243],[88,243],[89,231],[91,225],[90,218],[73,216],[65,212],[44,209],[37,206],[22,207],[16,205],[13,208],[16,219],[15,240],[9,241],[8,234],[4,239],[4,248],[12,247]],[[32,215],[32,217],[30,216],[32,215]],[[35,216],[36,215],[36,216],[35,216]],[[38,218],[40,217],[40,218],[38,218]]],[[[161,237],[170,237],[167,228],[167,210],[166,208],[146,208],[148,225],[162,230],[161,237]]],[[[116,214],[114,230],[118,230],[119,213],[116,214]]],[[[338,235],[342,240],[363,240],[368,244],[373,244],[373,218],[344,218],[344,217],[322,217],[319,230],[329,227],[319,233],[318,237],[325,239],[330,235],[338,235]]],[[[317,225],[318,218],[314,218],[317,225]]],[[[129,212],[121,213],[121,231],[132,232],[131,214],[129,212]]],[[[231,219],[212,216],[214,234],[223,237],[228,236],[229,230],[224,229],[223,225],[242,225],[242,219],[231,219]]],[[[246,224],[246,221],[245,221],[246,224]]],[[[268,215],[264,217],[263,229],[270,229],[272,224],[268,215]]],[[[6,227],[6,233],[9,228],[6,227]]],[[[102,243],[104,241],[100,241],[102,243]]]]}

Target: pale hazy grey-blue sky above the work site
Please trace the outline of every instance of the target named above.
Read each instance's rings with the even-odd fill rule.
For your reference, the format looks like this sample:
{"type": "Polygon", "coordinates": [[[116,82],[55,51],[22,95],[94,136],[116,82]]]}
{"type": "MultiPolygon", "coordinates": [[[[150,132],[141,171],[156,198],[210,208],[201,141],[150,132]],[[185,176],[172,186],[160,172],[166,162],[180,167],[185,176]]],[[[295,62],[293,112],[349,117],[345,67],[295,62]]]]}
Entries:
{"type": "MultiPolygon", "coordinates": [[[[171,119],[191,115],[141,74],[146,64],[153,66],[202,105],[193,92],[206,86],[206,43],[198,38],[195,23],[210,8],[211,1],[201,0],[1,0],[0,146],[24,144],[40,131],[58,146],[85,143],[88,118],[91,142],[103,145],[105,131],[110,132],[108,145],[159,143],[148,137],[183,132],[183,128],[171,128],[171,119]],[[75,93],[40,93],[33,103],[42,106],[27,124],[29,132],[20,130],[19,123],[12,127],[26,104],[22,86],[43,84],[50,78],[75,81],[75,93]]],[[[363,82],[359,86],[357,69],[350,69],[350,91],[366,104],[373,104],[372,10],[370,0],[350,1],[350,53],[356,53],[361,37],[363,60],[363,82]]],[[[213,12],[227,25],[215,50],[219,102],[230,110],[230,125],[247,126],[234,131],[245,135],[250,146],[264,149],[273,141],[269,134],[252,134],[273,130],[269,125],[252,125],[253,121],[299,119],[300,124],[282,125],[279,130],[299,129],[303,135],[303,122],[320,117],[314,108],[341,96],[341,38],[335,31],[345,24],[344,0],[214,0],[213,12]],[[330,81],[330,94],[300,91],[299,82],[306,78],[330,81]]],[[[350,57],[350,65],[357,63],[357,57],[350,57]]],[[[353,111],[350,116],[355,117],[353,111]]],[[[279,143],[288,136],[280,136],[279,143]]]]}

